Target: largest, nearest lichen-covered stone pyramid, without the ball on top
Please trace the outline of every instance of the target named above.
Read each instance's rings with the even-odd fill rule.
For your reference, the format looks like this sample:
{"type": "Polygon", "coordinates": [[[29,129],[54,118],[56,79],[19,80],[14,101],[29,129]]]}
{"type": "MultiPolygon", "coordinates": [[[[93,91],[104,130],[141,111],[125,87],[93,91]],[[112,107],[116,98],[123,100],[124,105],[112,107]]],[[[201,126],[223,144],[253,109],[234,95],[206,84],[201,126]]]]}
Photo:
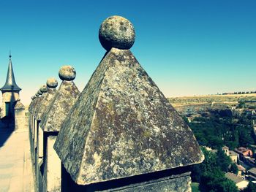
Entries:
{"type": "Polygon", "coordinates": [[[129,50],[112,48],[67,115],[54,145],[87,185],[198,164],[203,153],[129,50]]]}

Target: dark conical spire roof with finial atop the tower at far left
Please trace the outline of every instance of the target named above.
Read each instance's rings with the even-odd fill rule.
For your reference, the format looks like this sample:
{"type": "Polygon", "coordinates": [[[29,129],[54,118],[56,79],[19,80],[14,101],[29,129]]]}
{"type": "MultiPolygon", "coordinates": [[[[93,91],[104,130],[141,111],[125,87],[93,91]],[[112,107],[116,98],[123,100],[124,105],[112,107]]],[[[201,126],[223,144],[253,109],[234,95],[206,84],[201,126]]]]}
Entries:
{"type": "Polygon", "coordinates": [[[7,71],[7,80],[4,84],[4,86],[0,89],[1,91],[20,91],[21,88],[18,87],[18,85],[15,82],[15,77],[12,69],[12,55],[10,51],[9,55],[9,66],[7,71]]]}

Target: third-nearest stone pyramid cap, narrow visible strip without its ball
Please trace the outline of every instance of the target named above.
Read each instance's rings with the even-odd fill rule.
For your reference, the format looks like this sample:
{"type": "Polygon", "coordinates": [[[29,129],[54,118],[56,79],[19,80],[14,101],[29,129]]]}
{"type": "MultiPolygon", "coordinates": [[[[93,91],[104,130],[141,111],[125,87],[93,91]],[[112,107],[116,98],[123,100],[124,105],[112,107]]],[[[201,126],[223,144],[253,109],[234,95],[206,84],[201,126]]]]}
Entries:
{"type": "Polygon", "coordinates": [[[46,93],[44,99],[42,100],[42,103],[39,107],[39,110],[37,110],[37,112],[35,113],[35,118],[37,120],[41,119],[42,114],[45,112],[45,110],[49,106],[50,101],[51,101],[51,99],[53,99],[53,96],[56,92],[57,92],[56,88],[49,88],[48,89],[48,93],[46,93]]]}

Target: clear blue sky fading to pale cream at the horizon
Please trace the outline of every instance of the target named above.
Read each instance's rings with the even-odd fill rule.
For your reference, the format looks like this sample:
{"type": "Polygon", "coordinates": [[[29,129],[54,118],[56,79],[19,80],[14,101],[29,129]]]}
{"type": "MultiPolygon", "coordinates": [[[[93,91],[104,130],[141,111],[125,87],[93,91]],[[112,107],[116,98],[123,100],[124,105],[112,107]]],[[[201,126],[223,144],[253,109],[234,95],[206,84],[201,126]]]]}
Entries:
{"type": "Polygon", "coordinates": [[[105,53],[98,30],[111,15],[134,24],[132,53],[165,96],[256,90],[255,0],[0,0],[0,84],[12,50],[24,104],[62,65],[75,67],[82,91],[105,53]]]}

